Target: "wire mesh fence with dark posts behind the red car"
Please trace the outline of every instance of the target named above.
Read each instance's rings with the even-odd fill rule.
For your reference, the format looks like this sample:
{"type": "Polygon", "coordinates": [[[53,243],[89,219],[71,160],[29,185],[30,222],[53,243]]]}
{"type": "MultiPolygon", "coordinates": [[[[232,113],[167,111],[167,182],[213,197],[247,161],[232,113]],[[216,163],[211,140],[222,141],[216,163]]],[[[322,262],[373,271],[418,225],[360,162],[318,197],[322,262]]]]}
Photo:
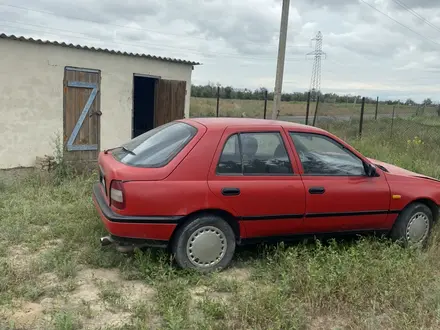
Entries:
{"type": "MultiPolygon", "coordinates": [[[[271,118],[273,101],[267,92],[260,99],[193,98],[191,116],[271,118]]],[[[366,138],[391,144],[440,143],[440,107],[391,102],[336,102],[331,99],[281,102],[279,120],[326,129],[343,139],[366,138]],[[363,116],[362,115],[363,108],[363,116]],[[410,141],[410,142],[408,142],[410,141]],[[416,143],[416,142],[414,142],[416,143]]]]}

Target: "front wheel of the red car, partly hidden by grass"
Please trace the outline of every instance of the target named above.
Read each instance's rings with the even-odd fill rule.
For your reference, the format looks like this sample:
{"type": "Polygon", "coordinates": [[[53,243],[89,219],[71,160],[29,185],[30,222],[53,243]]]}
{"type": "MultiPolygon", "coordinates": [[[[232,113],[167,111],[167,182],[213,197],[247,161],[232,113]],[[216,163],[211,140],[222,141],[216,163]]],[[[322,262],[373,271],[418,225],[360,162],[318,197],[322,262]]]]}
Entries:
{"type": "Polygon", "coordinates": [[[397,217],[391,238],[405,247],[426,246],[433,226],[431,209],[423,203],[408,205],[397,217]]]}

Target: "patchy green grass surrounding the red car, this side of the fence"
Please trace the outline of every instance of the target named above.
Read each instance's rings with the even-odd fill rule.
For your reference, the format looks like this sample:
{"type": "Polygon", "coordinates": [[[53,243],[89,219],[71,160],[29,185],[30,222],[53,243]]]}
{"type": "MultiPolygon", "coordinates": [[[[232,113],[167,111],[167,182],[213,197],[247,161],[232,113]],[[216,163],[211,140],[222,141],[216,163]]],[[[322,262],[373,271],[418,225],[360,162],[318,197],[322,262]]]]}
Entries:
{"type": "MultiPolygon", "coordinates": [[[[397,120],[390,137],[389,122],[367,121],[358,140],[347,125],[327,128],[367,156],[440,178],[439,127],[397,120]]],[[[423,251],[371,237],[256,246],[199,275],[163,251],[101,248],[95,178],[61,179],[0,180],[0,329],[440,327],[439,228],[423,251]]]]}

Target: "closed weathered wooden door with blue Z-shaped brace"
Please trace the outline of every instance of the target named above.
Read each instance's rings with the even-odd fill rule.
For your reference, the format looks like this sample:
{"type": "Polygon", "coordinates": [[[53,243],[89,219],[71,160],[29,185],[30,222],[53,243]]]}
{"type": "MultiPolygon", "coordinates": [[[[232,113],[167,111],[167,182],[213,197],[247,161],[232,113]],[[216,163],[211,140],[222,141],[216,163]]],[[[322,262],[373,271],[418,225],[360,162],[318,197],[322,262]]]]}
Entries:
{"type": "Polygon", "coordinates": [[[100,146],[101,73],[66,67],[64,71],[64,157],[93,162],[100,146]]]}

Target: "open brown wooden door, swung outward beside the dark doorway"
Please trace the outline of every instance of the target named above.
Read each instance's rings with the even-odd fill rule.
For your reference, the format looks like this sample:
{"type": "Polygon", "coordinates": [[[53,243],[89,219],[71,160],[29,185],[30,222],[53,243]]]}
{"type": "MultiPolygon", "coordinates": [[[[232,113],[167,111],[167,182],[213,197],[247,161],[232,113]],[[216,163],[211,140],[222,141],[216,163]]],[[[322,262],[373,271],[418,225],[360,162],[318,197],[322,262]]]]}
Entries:
{"type": "Polygon", "coordinates": [[[154,126],[185,116],[186,81],[159,79],[156,83],[154,126]]]}

